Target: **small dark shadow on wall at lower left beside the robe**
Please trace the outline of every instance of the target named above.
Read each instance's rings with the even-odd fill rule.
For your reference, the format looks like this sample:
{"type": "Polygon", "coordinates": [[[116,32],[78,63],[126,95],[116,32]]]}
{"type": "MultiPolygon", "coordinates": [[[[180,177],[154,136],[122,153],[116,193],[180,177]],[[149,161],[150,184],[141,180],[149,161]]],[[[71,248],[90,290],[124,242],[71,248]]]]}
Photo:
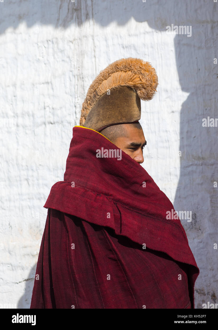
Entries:
{"type": "Polygon", "coordinates": [[[22,309],[30,308],[34,279],[35,279],[35,274],[36,274],[36,265],[37,265],[37,263],[31,268],[28,279],[26,280],[24,293],[20,297],[20,299],[17,303],[17,308],[22,308],[22,309]]]}

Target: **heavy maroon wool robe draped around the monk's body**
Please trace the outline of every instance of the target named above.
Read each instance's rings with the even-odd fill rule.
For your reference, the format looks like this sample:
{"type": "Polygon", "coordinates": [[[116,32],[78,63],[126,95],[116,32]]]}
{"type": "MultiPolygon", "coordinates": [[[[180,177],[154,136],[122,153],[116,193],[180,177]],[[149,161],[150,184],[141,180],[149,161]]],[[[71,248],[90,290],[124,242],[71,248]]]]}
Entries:
{"type": "Polygon", "coordinates": [[[125,152],[97,158],[102,147],[118,149],[73,128],[64,181],[44,206],[30,308],[194,308],[199,268],[180,220],[166,219],[172,203],[125,152]]]}

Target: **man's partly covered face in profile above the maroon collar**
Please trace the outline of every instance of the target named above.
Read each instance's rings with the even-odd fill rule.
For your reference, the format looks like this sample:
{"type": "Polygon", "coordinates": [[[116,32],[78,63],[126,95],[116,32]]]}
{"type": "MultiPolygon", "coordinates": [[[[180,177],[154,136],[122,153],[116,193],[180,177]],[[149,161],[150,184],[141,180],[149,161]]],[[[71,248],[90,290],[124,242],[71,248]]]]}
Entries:
{"type": "Polygon", "coordinates": [[[144,138],[143,130],[133,125],[123,125],[126,129],[126,136],[116,138],[113,144],[141,164],[144,161],[142,150],[147,143],[144,138]]]}

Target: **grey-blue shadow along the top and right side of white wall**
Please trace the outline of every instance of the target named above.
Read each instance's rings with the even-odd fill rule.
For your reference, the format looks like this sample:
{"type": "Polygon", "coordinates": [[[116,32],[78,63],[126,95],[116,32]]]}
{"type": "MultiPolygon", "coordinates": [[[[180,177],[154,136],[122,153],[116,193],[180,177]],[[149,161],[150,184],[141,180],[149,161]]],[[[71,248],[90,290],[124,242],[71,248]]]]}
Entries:
{"type": "MultiPolygon", "coordinates": [[[[52,24],[56,28],[67,28],[71,24],[82,26],[86,20],[94,20],[101,26],[107,26],[111,21],[124,25],[131,17],[138,22],[147,21],[151,28],[159,31],[166,31],[166,26],[171,24],[192,26],[192,36],[178,34],[174,38],[179,82],[182,91],[189,93],[182,104],[180,115],[180,178],[174,207],[178,211],[192,211],[192,222],[181,222],[188,238],[192,237],[189,244],[201,268],[197,279],[197,283],[200,284],[196,289],[200,295],[199,304],[196,307],[202,308],[202,299],[214,300],[216,295],[212,287],[214,286],[215,290],[217,274],[213,265],[216,265],[217,261],[214,259],[211,245],[216,242],[213,233],[216,229],[215,217],[218,211],[217,191],[213,188],[213,182],[217,181],[215,175],[218,173],[215,149],[218,129],[202,127],[202,118],[215,118],[215,105],[218,104],[218,66],[213,63],[213,58],[218,57],[218,3],[212,0],[91,0],[88,3],[82,0],[56,0],[51,5],[51,2],[41,0],[17,1],[10,4],[4,2],[0,3],[0,7],[0,33],[8,27],[16,28],[23,21],[28,27],[35,24],[52,24]],[[205,233],[207,236],[204,236],[205,233]],[[193,237],[196,239],[193,240],[193,237]],[[201,239],[201,246],[198,247],[197,242],[201,239]],[[204,252],[200,253],[199,249],[203,249],[204,252]],[[204,281],[208,269],[214,281],[210,285],[209,280],[204,281]],[[206,288],[206,284],[203,283],[210,287],[206,288]]],[[[81,40],[83,49],[86,42],[81,40]]],[[[143,55],[141,57],[143,58],[143,55]]],[[[33,281],[27,283],[27,290],[19,306],[24,302],[26,305],[29,304],[30,283],[32,285],[33,281]]]]}

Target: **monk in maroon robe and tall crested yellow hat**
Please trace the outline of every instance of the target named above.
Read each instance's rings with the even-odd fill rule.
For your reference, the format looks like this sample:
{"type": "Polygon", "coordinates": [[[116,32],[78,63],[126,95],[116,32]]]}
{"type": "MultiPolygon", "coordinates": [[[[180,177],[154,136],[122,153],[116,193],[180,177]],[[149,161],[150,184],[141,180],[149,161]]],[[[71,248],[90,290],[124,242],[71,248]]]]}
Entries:
{"type": "Polygon", "coordinates": [[[193,309],[199,268],[168,197],[140,165],[148,62],[115,61],[90,85],[64,181],[50,191],[31,309],[193,309]]]}

